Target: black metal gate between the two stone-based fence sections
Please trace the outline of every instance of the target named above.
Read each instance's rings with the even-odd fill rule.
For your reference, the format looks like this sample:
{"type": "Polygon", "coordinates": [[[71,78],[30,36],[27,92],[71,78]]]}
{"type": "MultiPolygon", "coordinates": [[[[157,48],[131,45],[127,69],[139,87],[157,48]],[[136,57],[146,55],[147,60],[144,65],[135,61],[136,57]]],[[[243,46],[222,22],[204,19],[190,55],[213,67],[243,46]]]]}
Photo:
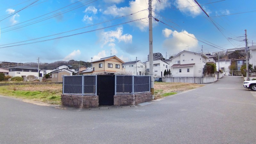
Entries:
{"type": "Polygon", "coordinates": [[[99,105],[114,105],[115,75],[97,76],[97,95],[99,105]]]}

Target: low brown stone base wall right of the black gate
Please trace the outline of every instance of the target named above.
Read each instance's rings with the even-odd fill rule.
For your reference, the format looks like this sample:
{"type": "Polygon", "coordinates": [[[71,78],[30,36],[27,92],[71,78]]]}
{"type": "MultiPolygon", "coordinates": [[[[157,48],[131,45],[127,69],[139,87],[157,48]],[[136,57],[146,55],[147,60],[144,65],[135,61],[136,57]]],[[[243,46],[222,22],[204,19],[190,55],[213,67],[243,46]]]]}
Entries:
{"type": "Polygon", "coordinates": [[[114,106],[135,105],[152,100],[151,92],[136,95],[114,95],[114,106]]]}

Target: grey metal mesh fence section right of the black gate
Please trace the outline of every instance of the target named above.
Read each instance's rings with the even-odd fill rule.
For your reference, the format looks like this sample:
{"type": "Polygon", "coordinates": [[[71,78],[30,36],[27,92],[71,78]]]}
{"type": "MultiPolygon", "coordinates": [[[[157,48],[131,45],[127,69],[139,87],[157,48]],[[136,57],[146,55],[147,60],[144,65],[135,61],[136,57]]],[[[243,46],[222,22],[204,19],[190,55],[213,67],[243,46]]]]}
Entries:
{"type": "Polygon", "coordinates": [[[145,92],[150,92],[150,76],[115,76],[115,95],[133,95],[145,92]]]}

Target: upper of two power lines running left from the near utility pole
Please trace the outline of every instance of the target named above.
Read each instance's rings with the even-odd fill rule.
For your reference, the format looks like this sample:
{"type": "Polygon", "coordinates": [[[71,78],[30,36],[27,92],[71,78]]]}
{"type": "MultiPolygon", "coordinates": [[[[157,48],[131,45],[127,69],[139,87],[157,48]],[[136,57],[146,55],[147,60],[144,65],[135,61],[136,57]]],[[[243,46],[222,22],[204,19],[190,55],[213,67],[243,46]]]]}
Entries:
{"type": "MultiPolygon", "coordinates": [[[[146,9],[145,9],[145,10],[146,10],[146,9]]],[[[141,10],[141,11],[145,11],[145,10],[141,10]]],[[[121,16],[121,17],[118,17],[118,18],[115,18],[115,19],[120,19],[120,18],[123,18],[123,17],[131,16],[131,15],[133,15],[133,14],[135,14],[135,13],[138,13],[138,12],[140,12],[140,11],[134,12],[134,13],[129,14],[129,15],[121,16]]],[[[99,25],[99,24],[103,24],[103,23],[106,23],[106,22],[109,22],[109,21],[115,20],[115,19],[110,19],[110,20],[107,20],[107,21],[104,21],[104,22],[101,22],[101,23],[97,23],[97,24],[94,24],[94,25],[86,26],[86,27],[96,26],[96,25],[99,25]]],[[[80,27],[80,28],[76,28],[76,29],[73,29],[73,30],[69,30],[69,31],[61,32],[61,33],[58,33],[58,34],[64,34],[64,33],[72,32],[72,31],[76,31],[76,30],[79,30],[79,29],[83,29],[83,28],[86,28],[86,27],[80,27]]],[[[30,40],[26,40],[26,41],[21,41],[21,42],[33,41],[33,40],[37,40],[37,39],[41,39],[41,38],[45,38],[45,37],[50,37],[50,36],[54,36],[54,35],[58,35],[58,34],[52,34],[52,35],[43,36],[43,37],[39,37],[39,38],[35,38],[35,39],[30,39],[30,40]]],[[[0,45],[0,46],[10,45],[10,44],[15,44],[15,43],[21,43],[21,42],[13,42],[13,43],[8,43],[8,44],[3,44],[3,45],[0,45]]]]}

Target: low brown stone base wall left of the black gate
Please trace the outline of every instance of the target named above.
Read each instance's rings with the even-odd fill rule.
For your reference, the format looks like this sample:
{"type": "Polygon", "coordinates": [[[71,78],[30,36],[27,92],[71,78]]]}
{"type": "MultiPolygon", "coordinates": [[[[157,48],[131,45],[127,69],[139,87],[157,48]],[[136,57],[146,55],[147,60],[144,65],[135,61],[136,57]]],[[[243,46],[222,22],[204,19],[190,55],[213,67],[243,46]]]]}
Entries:
{"type": "Polygon", "coordinates": [[[98,95],[61,95],[61,104],[63,106],[75,107],[75,108],[97,108],[99,107],[98,95]]]}

